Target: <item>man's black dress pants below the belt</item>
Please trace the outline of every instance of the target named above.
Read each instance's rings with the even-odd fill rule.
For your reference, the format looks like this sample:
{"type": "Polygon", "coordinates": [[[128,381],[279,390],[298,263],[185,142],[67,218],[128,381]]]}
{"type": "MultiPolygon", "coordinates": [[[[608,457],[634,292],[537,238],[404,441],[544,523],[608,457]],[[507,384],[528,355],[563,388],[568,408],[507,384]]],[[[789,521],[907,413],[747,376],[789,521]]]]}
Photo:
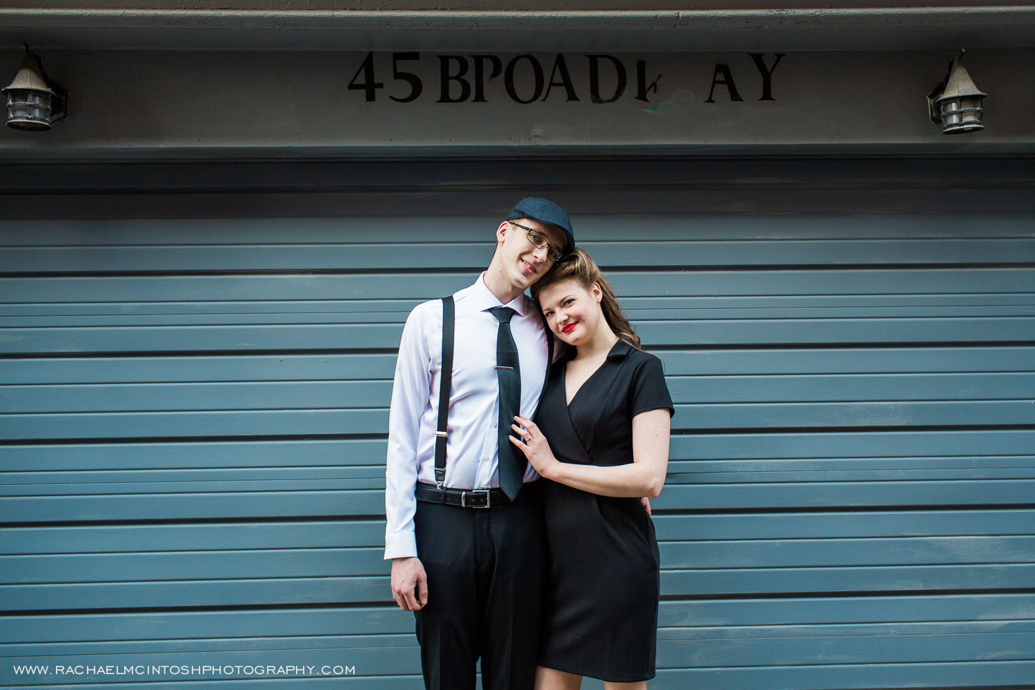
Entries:
{"type": "Polygon", "coordinates": [[[480,657],[484,690],[531,690],[545,548],[539,499],[487,509],[418,501],[414,526],[427,573],[427,604],[415,612],[424,687],[474,690],[480,657]]]}

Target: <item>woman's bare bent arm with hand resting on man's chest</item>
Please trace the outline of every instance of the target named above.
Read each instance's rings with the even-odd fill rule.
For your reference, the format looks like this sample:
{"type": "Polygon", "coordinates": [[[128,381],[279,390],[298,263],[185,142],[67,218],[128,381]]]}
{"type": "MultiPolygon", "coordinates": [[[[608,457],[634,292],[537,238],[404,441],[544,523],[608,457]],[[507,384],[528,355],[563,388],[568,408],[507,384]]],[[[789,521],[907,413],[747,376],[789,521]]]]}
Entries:
{"type": "Polygon", "coordinates": [[[633,417],[632,462],[608,468],[561,462],[554,457],[550,444],[532,420],[514,419],[521,425],[511,426],[514,433],[527,437],[528,441],[511,436],[510,443],[521,448],[536,472],[546,479],[599,496],[655,499],[661,492],[669,468],[668,409],[650,410],[633,417]]]}

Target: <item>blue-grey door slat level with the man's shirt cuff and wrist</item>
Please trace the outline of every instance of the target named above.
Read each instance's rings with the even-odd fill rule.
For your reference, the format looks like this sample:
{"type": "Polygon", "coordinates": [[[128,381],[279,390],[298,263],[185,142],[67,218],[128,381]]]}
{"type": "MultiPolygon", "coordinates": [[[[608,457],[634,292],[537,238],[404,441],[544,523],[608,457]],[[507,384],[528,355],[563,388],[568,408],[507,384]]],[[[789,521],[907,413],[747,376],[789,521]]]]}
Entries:
{"type": "MultiPolygon", "coordinates": [[[[663,570],[1035,565],[1033,536],[662,541],[663,570]]],[[[7,584],[384,575],[381,546],[0,556],[7,584]]],[[[944,569],[943,569],[944,570],[944,569]]],[[[919,571],[919,569],[918,569],[919,571]]]]}

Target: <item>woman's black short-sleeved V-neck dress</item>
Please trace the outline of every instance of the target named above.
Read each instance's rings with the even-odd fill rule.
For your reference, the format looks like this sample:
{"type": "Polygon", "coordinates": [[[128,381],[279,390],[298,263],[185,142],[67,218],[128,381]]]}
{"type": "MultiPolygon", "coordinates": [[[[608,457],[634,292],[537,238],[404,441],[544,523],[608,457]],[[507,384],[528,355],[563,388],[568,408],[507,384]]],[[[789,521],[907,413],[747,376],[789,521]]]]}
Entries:
{"type": "MultiPolygon", "coordinates": [[[[661,360],[619,340],[565,401],[574,350],[558,360],[536,412],[562,462],[632,461],[632,418],[675,411],[661,360]]],[[[588,493],[542,480],[550,550],[539,665],[612,683],[654,678],[658,552],[640,499],[588,493]]]]}

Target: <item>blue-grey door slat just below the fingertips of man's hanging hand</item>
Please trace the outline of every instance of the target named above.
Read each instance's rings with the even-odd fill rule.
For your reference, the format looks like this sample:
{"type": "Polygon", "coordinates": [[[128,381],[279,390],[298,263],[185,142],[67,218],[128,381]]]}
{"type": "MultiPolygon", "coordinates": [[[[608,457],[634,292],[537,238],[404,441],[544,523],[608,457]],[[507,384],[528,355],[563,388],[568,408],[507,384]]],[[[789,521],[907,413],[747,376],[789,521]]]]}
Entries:
{"type": "MultiPolygon", "coordinates": [[[[155,644],[207,644],[233,638],[280,635],[413,633],[413,617],[394,602],[384,606],[314,607],[131,613],[11,616],[0,628],[4,646],[151,640],[155,644]],[[213,634],[213,632],[215,634],[213,634]],[[168,640],[168,641],[167,641],[168,640]]],[[[1035,620],[1033,594],[936,594],[901,596],[701,599],[662,601],[659,630],[721,627],[789,627],[898,623],[989,624],[1035,620]]],[[[790,634],[794,634],[791,632],[790,634]]],[[[274,638],[275,639],[275,638],[274,638]]],[[[182,647],[180,649],[183,649],[182,647]]]]}

